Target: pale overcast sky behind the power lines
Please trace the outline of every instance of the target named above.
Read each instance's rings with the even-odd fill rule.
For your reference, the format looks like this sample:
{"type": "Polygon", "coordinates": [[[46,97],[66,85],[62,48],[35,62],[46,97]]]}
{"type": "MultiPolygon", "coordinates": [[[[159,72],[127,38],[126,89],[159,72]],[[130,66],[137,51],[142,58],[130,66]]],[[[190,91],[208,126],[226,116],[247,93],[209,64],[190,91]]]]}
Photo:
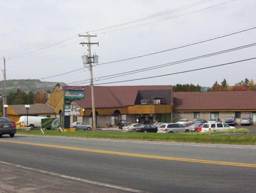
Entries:
{"type": "MultiPolygon", "coordinates": [[[[92,45],[92,53],[97,53],[99,63],[103,63],[170,49],[256,26],[255,0],[229,1],[0,0],[0,56],[1,59],[2,56],[7,58],[7,79],[38,79],[68,72],[84,66],[81,56],[87,54],[87,46],[83,47],[79,42],[87,39],[78,37],[78,33],[134,21],[192,3],[197,4],[140,22],[91,32],[97,34],[97,37],[91,37],[91,40],[99,41],[99,46],[92,45]],[[146,24],[150,22],[152,23],[146,24]],[[140,26],[133,27],[135,25],[140,26]],[[119,30],[127,27],[131,28],[119,30]]],[[[93,74],[97,78],[254,42],[256,29],[159,54],[98,65],[93,68],[93,74]]],[[[256,47],[252,46],[122,77],[101,81],[97,78],[98,81],[94,83],[174,73],[255,56],[256,47]]],[[[223,78],[233,85],[245,77],[256,80],[255,63],[256,60],[249,60],[200,71],[106,85],[193,83],[211,86],[215,80],[221,82],[223,78]]],[[[41,80],[69,83],[88,78],[90,73],[84,69],[41,80]]]]}

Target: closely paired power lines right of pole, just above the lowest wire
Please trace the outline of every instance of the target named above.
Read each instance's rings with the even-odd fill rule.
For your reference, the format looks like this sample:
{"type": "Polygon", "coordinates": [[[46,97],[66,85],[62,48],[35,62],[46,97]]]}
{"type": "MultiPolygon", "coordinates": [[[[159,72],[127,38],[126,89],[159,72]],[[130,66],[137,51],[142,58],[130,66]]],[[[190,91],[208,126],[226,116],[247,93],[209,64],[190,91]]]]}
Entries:
{"type": "Polygon", "coordinates": [[[161,68],[161,67],[166,67],[166,66],[170,66],[170,65],[175,65],[175,64],[179,64],[179,63],[184,63],[184,62],[187,62],[187,61],[201,59],[201,58],[205,58],[205,57],[209,57],[209,56],[213,56],[213,55],[218,55],[218,54],[222,54],[222,53],[226,53],[226,52],[230,52],[230,51],[235,51],[235,50],[239,50],[239,49],[243,49],[243,48],[247,48],[247,47],[251,47],[251,46],[255,46],[255,45],[256,45],[256,42],[251,43],[251,44],[247,44],[247,45],[242,45],[242,46],[239,46],[239,47],[234,47],[234,48],[230,48],[230,49],[225,49],[225,50],[213,52],[213,53],[208,53],[208,54],[204,54],[204,55],[200,55],[200,56],[196,56],[196,57],[190,57],[190,58],[187,58],[187,59],[182,59],[182,60],[178,60],[178,61],[173,61],[173,62],[168,62],[168,63],[164,63],[164,64],[154,65],[154,66],[151,66],[151,67],[145,67],[145,68],[135,69],[135,70],[131,70],[131,71],[126,71],[126,72],[121,72],[121,73],[116,73],[116,74],[111,74],[111,75],[105,75],[105,76],[95,78],[96,79],[95,81],[120,77],[120,76],[124,76],[124,75],[129,75],[129,74],[139,73],[139,72],[148,71],[148,70],[152,70],[152,69],[157,69],[157,68],[161,68]],[[109,77],[109,76],[113,76],[113,77],[109,77]],[[103,77],[108,77],[108,78],[103,78],[103,77]],[[100,79],[100,78],[103,78],[103,79],[100,79]]]}

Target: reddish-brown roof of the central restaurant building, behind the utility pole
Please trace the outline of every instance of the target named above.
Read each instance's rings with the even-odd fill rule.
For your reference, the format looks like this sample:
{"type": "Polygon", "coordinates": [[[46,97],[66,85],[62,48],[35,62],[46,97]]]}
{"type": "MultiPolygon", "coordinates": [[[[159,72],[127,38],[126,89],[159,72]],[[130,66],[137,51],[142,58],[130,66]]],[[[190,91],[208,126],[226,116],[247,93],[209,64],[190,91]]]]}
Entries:
{"type": "MultiPolygon", "coordinates": [[[[171,90],[171,85],[94,86],[96,108],[134,105],[139,90],[171,90]]],[[[76,100],[83,108],[92,108],[91,86],[85,86],[85,99],[76,100]]]]}

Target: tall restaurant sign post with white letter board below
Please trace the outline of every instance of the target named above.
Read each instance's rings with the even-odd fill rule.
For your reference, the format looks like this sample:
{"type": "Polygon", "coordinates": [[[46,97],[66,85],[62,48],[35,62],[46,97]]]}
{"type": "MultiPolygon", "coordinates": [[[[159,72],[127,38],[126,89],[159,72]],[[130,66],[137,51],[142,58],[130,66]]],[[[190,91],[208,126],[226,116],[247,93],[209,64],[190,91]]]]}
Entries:
{"type": "Polygon", "coordinates": [[[64,86],[64,128],[70,127],[70,116],[80,116],[80,105],[71,102],[84,99],[84,90],[83,86],[64,86]]]}

